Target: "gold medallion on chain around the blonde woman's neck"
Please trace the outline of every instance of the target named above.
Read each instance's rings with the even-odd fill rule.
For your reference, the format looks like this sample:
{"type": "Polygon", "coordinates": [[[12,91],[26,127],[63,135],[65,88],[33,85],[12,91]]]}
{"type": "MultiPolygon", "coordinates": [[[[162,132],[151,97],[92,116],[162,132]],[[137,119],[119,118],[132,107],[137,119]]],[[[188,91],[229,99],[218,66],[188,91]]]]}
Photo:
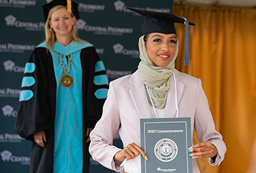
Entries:
{"type": "Polygon", "coordinates": [[[72,78],[72,76],[70,76],[72,54],[70,54],[70,65],[68,66],[68,73],[66,73],[66,69],[61,58],[61,54],[58,54],[58,55],[60,56],[60,62],[62,64],[63,71],[64,71],[64,75],[60,78],[60,84],[64,87],[72,87],[74,84],[74,79],[72,78]]]}

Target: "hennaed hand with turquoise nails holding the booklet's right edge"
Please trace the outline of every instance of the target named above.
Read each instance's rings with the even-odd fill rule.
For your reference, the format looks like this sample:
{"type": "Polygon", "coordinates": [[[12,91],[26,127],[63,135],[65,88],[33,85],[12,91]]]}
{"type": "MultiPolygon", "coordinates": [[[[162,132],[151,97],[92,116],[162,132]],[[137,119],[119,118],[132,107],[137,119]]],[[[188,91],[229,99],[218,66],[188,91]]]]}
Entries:
{"type": "Polygon", "coordinates": [[[218,153],[218,149],[215,145],[211,144],[211,141],[201,142],[194,146],[188,148],[188,152],[190,152],[190,157],[192,159],[200,159],[205,157],[215,157],[218,153]]]}

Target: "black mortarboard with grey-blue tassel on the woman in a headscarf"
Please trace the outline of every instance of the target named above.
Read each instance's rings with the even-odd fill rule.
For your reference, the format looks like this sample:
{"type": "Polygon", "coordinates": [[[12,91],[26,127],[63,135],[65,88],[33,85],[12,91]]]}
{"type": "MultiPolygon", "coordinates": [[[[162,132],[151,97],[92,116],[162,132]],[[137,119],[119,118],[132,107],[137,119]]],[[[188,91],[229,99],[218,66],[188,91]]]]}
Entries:
{"type": "Polygon", "coordinates": [[[185,40],[185,59],[184,64],[189,63],[189,36],[188,36],[188,25],[195,25],[188,22],[184,17],[178,17],[168,12],[156,12],[150,10],[142,10],[139,8],[127,7],[127,9],[137,12],[138,14],[145,16],[144,24],[140,31],[140,35],[146,35],[150,33],[163,33],[163,34],[176,34],[174,23],[180,23],[186,25],[186,40],[185,40]]]}

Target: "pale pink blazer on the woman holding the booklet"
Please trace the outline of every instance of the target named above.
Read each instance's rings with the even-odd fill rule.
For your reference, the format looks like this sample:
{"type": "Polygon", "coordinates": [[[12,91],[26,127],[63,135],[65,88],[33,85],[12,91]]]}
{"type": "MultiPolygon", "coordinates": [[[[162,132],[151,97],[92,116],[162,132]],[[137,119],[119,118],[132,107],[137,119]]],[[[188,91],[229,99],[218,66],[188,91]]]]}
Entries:
{"type": "MultiPolygon", "coordinates": [[[[220,164],[224,159],[226,146],[220,133],[215,131],[215,124],[209,111],[207,98],[202,89],[201,80],[175,69],[177,82],[177,102],[179,118],[191,118],[191,131],[196,130],[200,142],[210,140],[218,149],[220,164]]],[[[164,118],[173,118],[177,114],[175,107],[175,83],[171,76],[167,95],[164,118]]],[[[138,72],[123,76],[110,82],[108,98],[104,103],[102,118],[91,132],[89,151],[95,161],[117,172],[123,168],[115,166],[113,157],[121,150],[113,146],[113,139],[119,131],[123,146],[132,142],[140,146],[140,118],[152,118],[150,104],[144,84],[138,72]]],[[[193,172],[200,172],[196,159],[193,159],[193,172]]]]}

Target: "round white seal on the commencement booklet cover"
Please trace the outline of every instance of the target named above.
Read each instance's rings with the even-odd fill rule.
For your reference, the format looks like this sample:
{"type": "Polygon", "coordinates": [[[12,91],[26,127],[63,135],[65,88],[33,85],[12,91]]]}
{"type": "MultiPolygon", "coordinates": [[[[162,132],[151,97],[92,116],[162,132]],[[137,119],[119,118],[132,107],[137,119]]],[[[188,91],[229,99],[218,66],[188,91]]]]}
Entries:
{"type": "Polygon", "coordinates": [[[163,162],[169,162],[175,159],[178,153],[177,144],[168,138],[163,138],[156,142],[154,152],[156,157],[163,162]]]}

